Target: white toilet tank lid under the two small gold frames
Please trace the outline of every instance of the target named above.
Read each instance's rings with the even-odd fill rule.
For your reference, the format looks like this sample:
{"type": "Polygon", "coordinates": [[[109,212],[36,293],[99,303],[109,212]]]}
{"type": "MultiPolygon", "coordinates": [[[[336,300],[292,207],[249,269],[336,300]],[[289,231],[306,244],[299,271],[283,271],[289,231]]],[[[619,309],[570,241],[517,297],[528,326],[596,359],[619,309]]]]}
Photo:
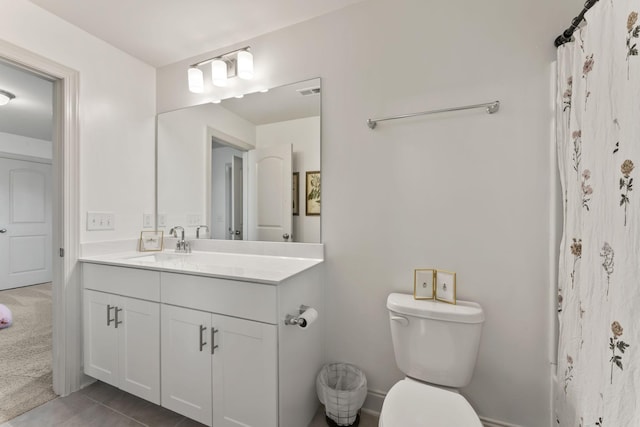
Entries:
{"type": "Polygon", "coordinates": [[[436,300],[416,300],[411,294],[390,294],[387,308],[407,316],[444,320],[458,323],[482,323],[484,312],[480,304],[458,300],[456,304],[447,304],[436,300]]]}

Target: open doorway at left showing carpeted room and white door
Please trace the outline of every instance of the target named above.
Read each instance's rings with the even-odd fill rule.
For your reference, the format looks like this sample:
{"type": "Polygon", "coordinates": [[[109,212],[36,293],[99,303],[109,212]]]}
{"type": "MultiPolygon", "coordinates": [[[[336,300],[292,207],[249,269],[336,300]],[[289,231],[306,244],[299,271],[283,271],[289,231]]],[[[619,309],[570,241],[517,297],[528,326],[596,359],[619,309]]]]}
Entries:
{"type": "Polygon", "coordinates": [[[0,423],[53,391],[54,82],[0,61],[0,423]]]}

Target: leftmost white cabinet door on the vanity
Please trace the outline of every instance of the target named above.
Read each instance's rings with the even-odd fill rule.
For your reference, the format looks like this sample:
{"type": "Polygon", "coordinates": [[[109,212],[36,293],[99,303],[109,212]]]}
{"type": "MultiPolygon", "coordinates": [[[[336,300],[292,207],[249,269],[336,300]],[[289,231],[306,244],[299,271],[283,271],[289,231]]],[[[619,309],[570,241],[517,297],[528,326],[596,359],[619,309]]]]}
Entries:
{"type": "Polygon", "coordinates": [[[84,371],[118,386],[118,340],[114,296],[84,290],[84,371]]]}

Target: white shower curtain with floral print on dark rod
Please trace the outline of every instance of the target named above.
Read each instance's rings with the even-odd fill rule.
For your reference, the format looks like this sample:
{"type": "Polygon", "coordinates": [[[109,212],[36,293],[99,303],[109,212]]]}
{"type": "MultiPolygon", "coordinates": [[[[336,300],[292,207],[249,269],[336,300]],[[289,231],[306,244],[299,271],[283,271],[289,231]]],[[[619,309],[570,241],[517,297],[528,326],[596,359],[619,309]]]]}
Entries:
{"type": "Polygon", "coordinates": [[[640,0],[600,0],[558,48],[561,427],[640,427],[640,0]]]}

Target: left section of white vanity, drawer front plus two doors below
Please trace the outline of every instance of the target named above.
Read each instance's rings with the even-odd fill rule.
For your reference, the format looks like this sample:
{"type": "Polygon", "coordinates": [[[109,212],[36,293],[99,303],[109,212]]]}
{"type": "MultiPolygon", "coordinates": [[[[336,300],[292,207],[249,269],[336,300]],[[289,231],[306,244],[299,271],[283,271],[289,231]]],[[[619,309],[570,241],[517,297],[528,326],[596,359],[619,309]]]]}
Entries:
{"type": "Polygon", "coordinates": [[[153,271],[83,266],[85,373],[156,404],[160,404],[159,279],[153,271]]]}

